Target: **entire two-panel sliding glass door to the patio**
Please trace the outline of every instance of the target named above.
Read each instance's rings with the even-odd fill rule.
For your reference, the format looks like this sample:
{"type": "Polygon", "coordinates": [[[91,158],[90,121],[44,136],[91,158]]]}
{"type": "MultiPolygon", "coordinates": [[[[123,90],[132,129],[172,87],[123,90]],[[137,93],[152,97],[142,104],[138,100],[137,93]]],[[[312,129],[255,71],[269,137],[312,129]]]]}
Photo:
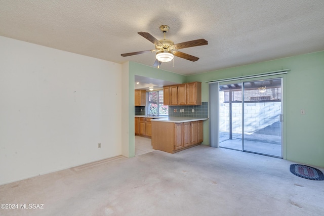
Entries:
{"type": "Polygon", "coordinates": [[[281,82],[275,78],[220,85],[220,147],[282,157],[281,82]]]}

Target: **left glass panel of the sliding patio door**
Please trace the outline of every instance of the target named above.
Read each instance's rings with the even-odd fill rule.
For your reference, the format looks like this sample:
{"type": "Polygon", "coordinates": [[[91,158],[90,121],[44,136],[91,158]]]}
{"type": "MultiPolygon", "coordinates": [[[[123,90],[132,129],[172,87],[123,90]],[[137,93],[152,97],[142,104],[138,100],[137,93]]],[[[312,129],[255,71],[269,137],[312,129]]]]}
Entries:
{"type": "Polygon", "coordinates": [[[220,85],[219,146],[242,151],[241,83],[220,85]]]}

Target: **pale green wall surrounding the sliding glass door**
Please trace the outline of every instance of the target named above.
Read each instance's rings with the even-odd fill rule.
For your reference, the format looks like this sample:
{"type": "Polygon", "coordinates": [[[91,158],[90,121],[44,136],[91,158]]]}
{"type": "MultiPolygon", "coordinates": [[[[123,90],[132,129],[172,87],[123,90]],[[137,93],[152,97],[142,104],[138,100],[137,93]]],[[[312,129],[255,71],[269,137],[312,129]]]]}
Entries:
{"type": "MultiPolygon", "coordinates": [[[[208,99],[206,81],[291,69],[284,77],[284,158],[324,167],[324,52],[196,74],[187,82],[202,82],[202,100],[208,99]],[[300,110],[305,110],[305,115],[300,110]]],[[[204,140],[209,125],[204,124],[204,140]]]]}

